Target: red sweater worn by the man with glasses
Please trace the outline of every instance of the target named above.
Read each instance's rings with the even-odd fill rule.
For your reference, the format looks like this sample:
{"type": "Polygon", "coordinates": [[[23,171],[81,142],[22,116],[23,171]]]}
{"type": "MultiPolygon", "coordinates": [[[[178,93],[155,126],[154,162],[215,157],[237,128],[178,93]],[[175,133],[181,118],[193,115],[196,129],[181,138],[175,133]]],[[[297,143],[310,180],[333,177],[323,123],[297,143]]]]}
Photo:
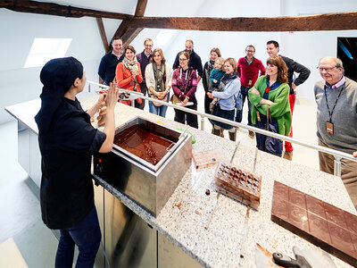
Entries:
{"type": "Polygon", "coordinates": [[[240,58],[237,63],[237,73],[240,77],[240,83],[245,88],[252,88],[258,79],[259,71],[260,75],[265,74],[265,68],[262,62],[256,58],[253,58],[252,63],[248,64],[245,60],[245,57],[240,58]],[[249,85],[249,80],[252,80],[252,83],[249,85]]]}

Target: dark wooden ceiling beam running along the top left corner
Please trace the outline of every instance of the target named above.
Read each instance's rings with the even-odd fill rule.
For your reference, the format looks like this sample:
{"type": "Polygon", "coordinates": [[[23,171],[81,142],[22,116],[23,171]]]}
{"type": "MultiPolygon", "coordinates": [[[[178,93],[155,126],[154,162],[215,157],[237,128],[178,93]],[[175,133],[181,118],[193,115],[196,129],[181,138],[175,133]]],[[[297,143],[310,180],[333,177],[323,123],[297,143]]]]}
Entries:
{"type": "Polygon", "coordinates": [[[45,15],[54,15],[70,18],[87,17],[102,17],[108,19],[127,20],[132,15],[124,13],[108,13],[103,11],[97,11],[87,8],[79,8],[71,5],[53,4],[37,1],[27,0],[0,0],[0,8],[7,8],[9,10],[21,13],[37,13],[45,15]]]}

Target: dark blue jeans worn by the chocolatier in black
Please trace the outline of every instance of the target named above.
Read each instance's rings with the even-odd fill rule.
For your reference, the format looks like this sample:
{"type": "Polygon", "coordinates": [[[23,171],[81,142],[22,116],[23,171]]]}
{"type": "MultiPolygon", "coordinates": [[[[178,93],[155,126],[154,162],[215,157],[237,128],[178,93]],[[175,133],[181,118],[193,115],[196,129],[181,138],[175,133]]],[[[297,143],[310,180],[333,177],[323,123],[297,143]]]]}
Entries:
{"type": "Polygon", "coordinates": [[[76,226],[62,229],[55,256],[55,267],[72,267],[74,245],[79,247],[76,268],[93,267],[95,255],[102,239],[95,206],[76,226]]]}

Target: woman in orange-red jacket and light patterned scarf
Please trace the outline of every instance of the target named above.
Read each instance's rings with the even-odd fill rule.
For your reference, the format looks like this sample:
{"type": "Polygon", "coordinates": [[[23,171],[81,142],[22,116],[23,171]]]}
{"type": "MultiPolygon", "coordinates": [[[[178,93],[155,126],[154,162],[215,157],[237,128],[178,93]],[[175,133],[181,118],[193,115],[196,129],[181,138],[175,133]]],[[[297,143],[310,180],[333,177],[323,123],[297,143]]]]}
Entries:
{"type": "MultiPolygon", "coordinates": [[[[139,83],[143,82],[143,76],[140,71],[140,63],[137,62],[135,54],[137,51],[133,46],[124,47],[124,59],[117,65],[116,80],[119,88],[140,91],[139,83]]],[[[142,102],[141,98],[137,98],[135,106],[138,107],[142,102]]],[[[131,101],[120,101],[124,105],[130,105],[131,101]]]]}

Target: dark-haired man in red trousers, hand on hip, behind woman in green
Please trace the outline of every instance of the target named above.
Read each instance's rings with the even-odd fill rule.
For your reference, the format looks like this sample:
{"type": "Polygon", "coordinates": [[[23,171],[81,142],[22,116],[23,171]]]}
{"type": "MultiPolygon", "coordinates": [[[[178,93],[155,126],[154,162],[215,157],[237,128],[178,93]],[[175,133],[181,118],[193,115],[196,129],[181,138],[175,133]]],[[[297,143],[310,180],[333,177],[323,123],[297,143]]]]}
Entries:
{"type": "MultiPolygon", "coordinates": [[[[278,42],[274,40],[270,40],[267,42],[267,53],[269,54],[270,57],[276,57],[276,56],[281,56],[286,63],[287,66],[287,80],[288,84],[290,87],[290,95],[289,95],[289,104],[290,104],[290,110],[291,110],[291,115],[293,115],[294,112],[294,106],[295,106],[295,89],[303,84],[305,80],[307,80],[310,76],[310,70],[307,69],[305,66],[303,66],[300,63],[296,63],[294,60],[283,56],[281,54],[278,54],[279,52],[279,46],[278,42]],[[294,79],[295,73],[299,73],[299,76],[294,79]]],[[[290,135],[289,137],[293,138],[293,126],[291,127],[290,135]]],[[[293,146],[290,142],[285,142],[285,153],[283,157],[287,160],[292,160],[293,159],[293,146]]]]}

